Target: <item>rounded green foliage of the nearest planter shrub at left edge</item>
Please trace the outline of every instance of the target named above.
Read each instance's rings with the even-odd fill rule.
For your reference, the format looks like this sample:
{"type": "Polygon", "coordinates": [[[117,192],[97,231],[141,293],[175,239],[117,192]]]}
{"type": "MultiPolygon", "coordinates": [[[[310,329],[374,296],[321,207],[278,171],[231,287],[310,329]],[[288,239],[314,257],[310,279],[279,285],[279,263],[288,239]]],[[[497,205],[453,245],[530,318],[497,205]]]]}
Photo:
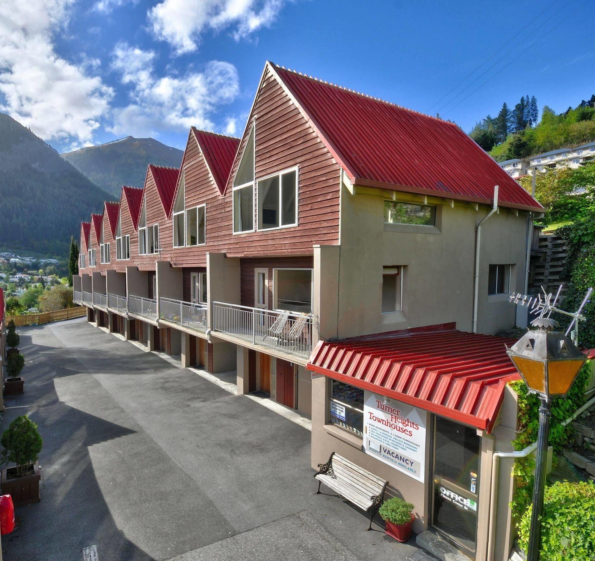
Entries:
{"type": "Polygon", "coordinates": [[[29,417],[15,418],[2,433],[2,464],[17,464],[17,477],[27,473],[30,464],[35,464],[41,452],[42,438],[37,425],[29,417]]]}

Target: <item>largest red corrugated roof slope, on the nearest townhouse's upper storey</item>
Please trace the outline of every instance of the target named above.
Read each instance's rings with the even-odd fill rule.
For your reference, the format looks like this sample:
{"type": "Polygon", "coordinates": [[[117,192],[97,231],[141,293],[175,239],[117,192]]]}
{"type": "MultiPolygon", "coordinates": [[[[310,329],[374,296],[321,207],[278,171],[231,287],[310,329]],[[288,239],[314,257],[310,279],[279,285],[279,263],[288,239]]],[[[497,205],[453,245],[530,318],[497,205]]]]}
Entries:
{"type": "Polygon", "coordinates": [[[457,125],[270,63],[356,185],[541,210],[457,125]]]}

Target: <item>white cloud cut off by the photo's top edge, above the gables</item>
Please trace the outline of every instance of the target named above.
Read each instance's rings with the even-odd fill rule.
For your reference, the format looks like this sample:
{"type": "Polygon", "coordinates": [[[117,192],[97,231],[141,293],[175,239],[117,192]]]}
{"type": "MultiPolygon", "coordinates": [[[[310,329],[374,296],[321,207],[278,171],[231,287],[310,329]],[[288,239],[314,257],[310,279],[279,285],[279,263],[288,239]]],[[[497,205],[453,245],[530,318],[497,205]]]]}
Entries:
{"type": "Polygon", "coordinates": [[[287,0],[163,0],[148,12],[158,39],[178,54],[196,51],[203,31],[232,27],[236,40],[270,26],[287,0]]]}

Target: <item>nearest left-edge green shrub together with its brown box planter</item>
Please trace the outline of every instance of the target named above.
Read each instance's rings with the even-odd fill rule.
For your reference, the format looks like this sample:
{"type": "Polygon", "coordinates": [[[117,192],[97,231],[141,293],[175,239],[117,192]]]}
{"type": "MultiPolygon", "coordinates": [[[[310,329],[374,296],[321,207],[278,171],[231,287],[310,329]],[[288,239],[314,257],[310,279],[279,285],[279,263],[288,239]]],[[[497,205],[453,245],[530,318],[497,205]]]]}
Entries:
{"type": "Polygon", "coordinates": [[[25,415],[15,418],[2,433],[2,464],[16,464],[2,468],[2,494],[10,494],[15,505],[40,500],[37,457],[42,443],[37,425],[25,415]]]}

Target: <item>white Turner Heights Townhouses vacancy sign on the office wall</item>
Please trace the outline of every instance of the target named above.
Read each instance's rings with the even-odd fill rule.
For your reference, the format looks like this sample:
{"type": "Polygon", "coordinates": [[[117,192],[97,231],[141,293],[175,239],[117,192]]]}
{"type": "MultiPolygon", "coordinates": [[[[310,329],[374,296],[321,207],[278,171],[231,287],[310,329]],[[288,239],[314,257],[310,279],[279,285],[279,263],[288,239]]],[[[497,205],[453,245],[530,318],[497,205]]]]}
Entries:
{"type": "Polygon", "coordinates": [[[428,412],[364,392],[364,449],[424,483],[428,412]]]}

